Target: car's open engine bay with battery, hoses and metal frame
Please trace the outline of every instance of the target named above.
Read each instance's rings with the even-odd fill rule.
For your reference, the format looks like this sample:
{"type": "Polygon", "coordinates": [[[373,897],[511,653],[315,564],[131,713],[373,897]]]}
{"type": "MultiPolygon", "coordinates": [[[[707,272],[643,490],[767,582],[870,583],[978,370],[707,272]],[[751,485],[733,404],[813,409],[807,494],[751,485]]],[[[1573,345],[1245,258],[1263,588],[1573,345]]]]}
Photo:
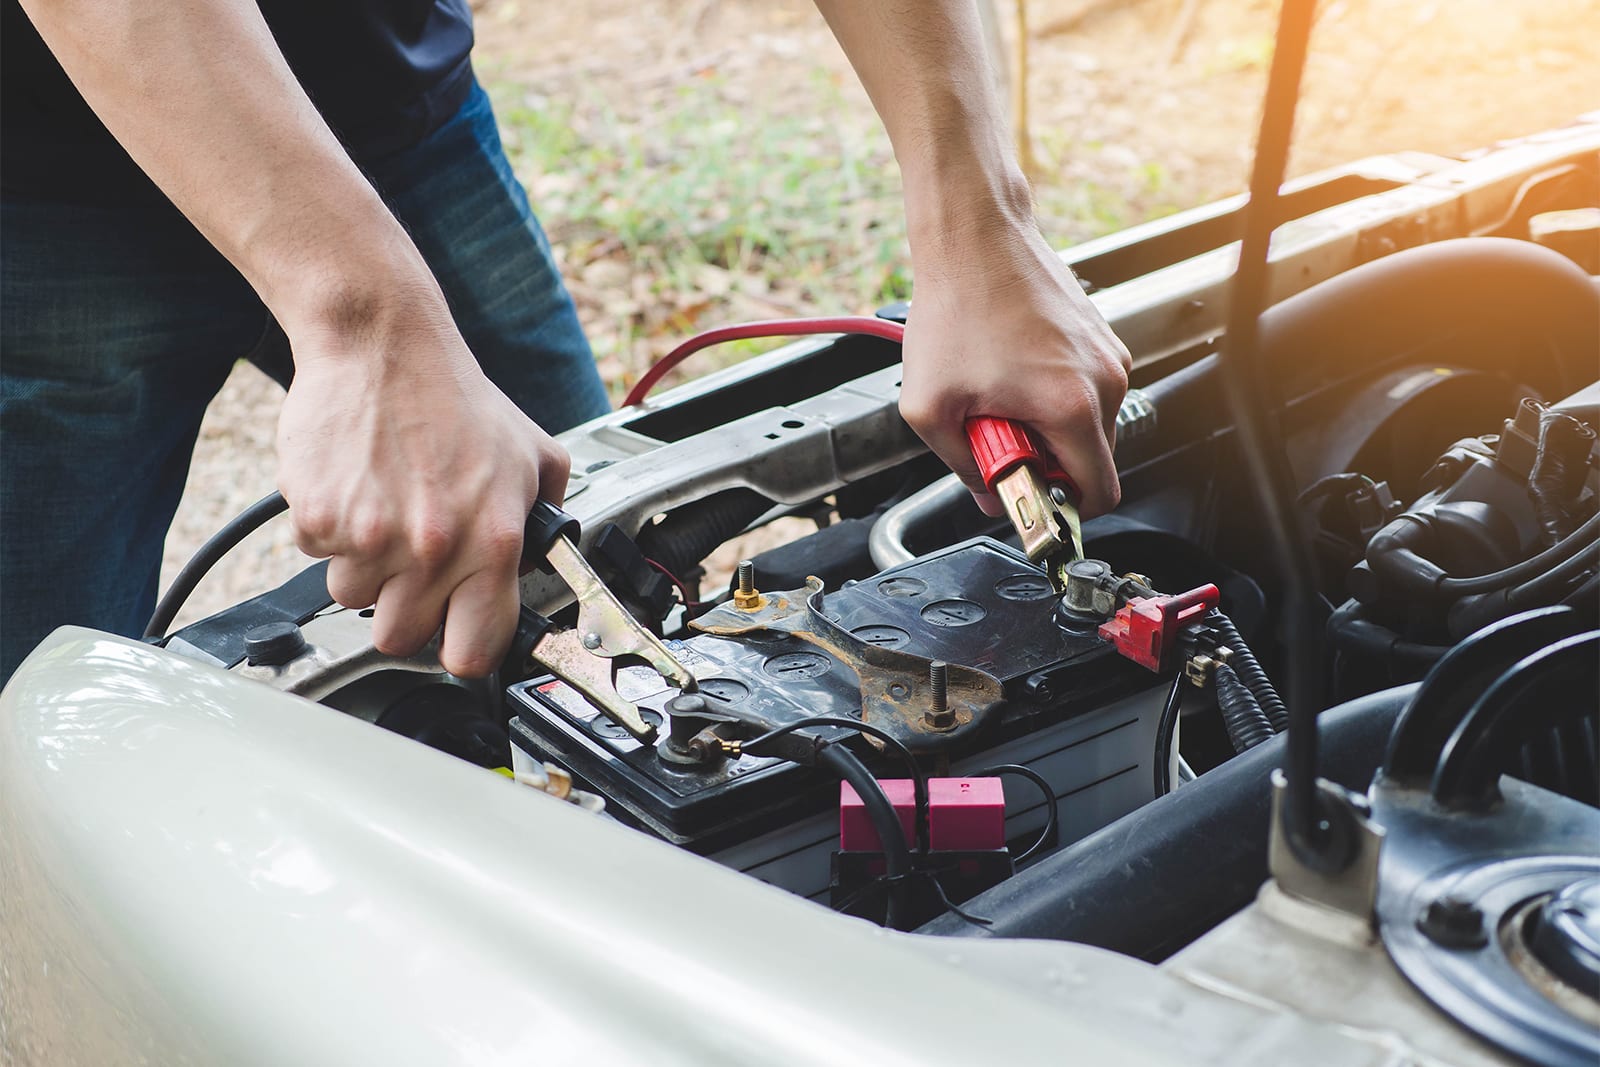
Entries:
{"type": "MultiPolygon", "coordinates": [[[[1357,790],[1378,774],[1390,825],[1422,825],[1438,811],[1382,793],[1411,781],[1389,744],[1411,721],[1440,768],[1470,749],[1467,779],[1509,776],[1502,808],[1578,825],[1600,801],[1600,264],[1539,246],[1530,221],[1600,202],[1600,152],[1581,138],[1518,144],[1454,165],[1448,181],[1397,176],[1402,166],[1301,186],[1259,326],[1315,558],[1325,758],[1357,790]],[[1405,246],[1379,248],[1397,237],[1405,246]],[[1515,654],[1483,645],[1506,643],[1507,627],[1523,635],[1515,654]],[[1555,657],[1526,664],[1546,653],[1555,657]],[[1477,707],[1515,672],[1515,707],[1563,710],[1494,712],[1483,736],[1470,715],[1440,710],[1477,707]],[[1424,678],[1432,705],[1416,694],[1424,678]],[[1395,686],[1411,688],[1373,710],[1395,686]],[[1434,707],[1432,733],[1416,726],[1419,705],[1434,707]],[[1341,747],[1350,709],[1365,709],[1368,733],[1341,747]]],[[[1085,558],[1061,581],[899,421],[898,346],[848,334],[562,438],[574,547],[691,685],[618,656],[597,683],[614,686],[619,704],[606,705],[526,649],[490,680],[445,673],[432,648],[386,657],[363,614],[328,597],[325,565],[165,648],[888,926],[1086,941],[1147,960],[1190,950],[1250,904],[1269,862],[1280,883],[1293,869],[1267,856],[1261,829],[1285,760],[1274,678],[1290,649],[1285,581],[1221,397],[1227,218],[1190,213],[1067,258],[1134,350],[1136,387],[1117,421],[1123,506],[1083,523],[1085,558]],[[778,518],[808,526],[750,553],[725,585],[706,577],[718,549],[778,518]],[[1216,845],[1206,835],[1218,830],[1237,841],[1216,845]],[[1130,856],[1146,864],[1136,881],[1118,873],[1130,856]],[[1157,885],[1186,877],[1182,904],[1157,885]]],[[[902,322],[906,309],[880,317],[902,322]]],[[[525,613],[544,629],[530,641],[565,633],[573,649],[603,648],[571,601],[558,574],[531,571],[525,613]]],[[[1424,785],[1451,795],[1448,782],[1424,785]]],[[[1506,838],[1501,859],[1542,854],[1528,833],[1506,838]]],[[[1451,840],[1437,825],[1426,835],[1451,840]]],[[[1563,841],[1546,851],[1568,854],[1563,841]]],[[[1578,905],[1546,905],[1592,896],[1590,867],[1507,891],[1494,920],[1530,931],[1539,981],[1563,990],[1549,1011],[1581,1019],[1600,1003],[1589,989],[1600,958],[1571,947],[1589,934],[1560,933],[1578,905]]],[[[1374,889],[1371,907],[1384,899],[1374,889]]],[[[1405,899],[1402,910],[1437,905],[1405,899]]],[[[1419,929],[1426,944],[1395,949],[1397,963],[1406,952],[1437,963],[1451,934],[1419,929]]],[[[1494,941],[1504,966],[1523,966],[1523,942],[1506,937],[1494,941]]],[[[1458,1017],[1475,1011],[1443,997],[1458,1017]]],[[[1528,1014],[1546,1008],[1502,1016],[1538,1029],[1528,1014]]],[[[1549,1046],[1560,1054],[1531,1056],[1560,1062],[1590,1046],[1560,1040],[1549,1046]]]]}

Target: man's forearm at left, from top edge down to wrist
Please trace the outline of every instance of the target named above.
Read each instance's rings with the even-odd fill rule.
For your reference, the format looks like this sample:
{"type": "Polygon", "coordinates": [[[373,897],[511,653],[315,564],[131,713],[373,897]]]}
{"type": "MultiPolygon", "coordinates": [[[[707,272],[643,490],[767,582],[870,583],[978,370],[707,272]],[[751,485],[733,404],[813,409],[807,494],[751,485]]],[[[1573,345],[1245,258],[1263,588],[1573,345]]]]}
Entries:
{"type": "Polygon", "coordinates": [[[290,330],[443,298],[253,0],[24,0],[101,122],[290,330]]]}

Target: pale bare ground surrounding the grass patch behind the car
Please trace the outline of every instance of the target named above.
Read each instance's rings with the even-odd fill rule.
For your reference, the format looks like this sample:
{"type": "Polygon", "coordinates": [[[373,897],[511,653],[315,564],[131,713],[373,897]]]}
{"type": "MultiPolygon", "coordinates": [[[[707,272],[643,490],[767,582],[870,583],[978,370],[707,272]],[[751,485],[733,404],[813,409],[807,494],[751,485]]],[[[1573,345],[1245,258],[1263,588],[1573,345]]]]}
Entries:
{"type": "MultiPolygon", "coordinates": [[[[1171,208],[1242,187],[1274,5],[1200,3],[1176,48],[1181,6],[1029,3],[1034,138],[1058,146],[1046,152],[1056,170],[1042,181],[1117,187],[1136,174],[1158,184],[1171,208]]],[[[478,62],[512,85],[562,91],[576,78],[627,96],[630,77],[688,85],[712,58],[722,77],[749,83],[752,123],[762,122],[760,107],[806,107],[806,78],[818,69],[856,101],[859,114],[838,122],[872,122],[837,45],[802,0],[483,0],[478,8],[478,62]],[[766,59],[730,59],[750,48],[766,59]]],[[[1472,149],[1600,107],[1597,0],[1326,0],[1320,11],[1298,173],[1378,152],[1472,149]]],[[[603,301],[579,304],[592,336],[614,333],[603,301]]],[[[211,405],[168,537],[163,587],[229,515],[274,488],[280,403],[278,389],[242,365],[211,405]]],[[[304,565],[280,518],[216,569],[181,619],[269,589],[304,565]]]]}

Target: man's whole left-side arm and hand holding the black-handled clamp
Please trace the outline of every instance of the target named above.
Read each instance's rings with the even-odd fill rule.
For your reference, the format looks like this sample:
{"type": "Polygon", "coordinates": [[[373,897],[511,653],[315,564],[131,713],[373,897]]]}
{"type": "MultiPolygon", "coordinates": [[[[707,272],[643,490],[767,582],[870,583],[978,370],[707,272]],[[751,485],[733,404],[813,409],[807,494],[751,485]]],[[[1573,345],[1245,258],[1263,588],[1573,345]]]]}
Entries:
{"type": "Polygon", "coordinates": [[[402,226],[253,0],[22,0],[99,118],[245,275],[294,350],[278,486],[328,589],[456,673],[517,621],[523,520],[568,458],[494,389],[402,226]]]}

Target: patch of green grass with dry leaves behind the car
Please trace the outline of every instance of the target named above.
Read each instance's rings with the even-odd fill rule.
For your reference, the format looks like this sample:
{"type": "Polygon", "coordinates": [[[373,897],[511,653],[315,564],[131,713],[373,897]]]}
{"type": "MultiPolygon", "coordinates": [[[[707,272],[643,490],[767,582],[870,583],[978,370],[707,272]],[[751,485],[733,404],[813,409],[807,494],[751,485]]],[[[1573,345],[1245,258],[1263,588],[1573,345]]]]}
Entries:
{"type": "MultiPolygon", "coordinates": [[[[715,74],[646,94],[586,85],[557,98],[506,82],[491,91],[614,394],[694,330],[866,312],[910,294],[888,138],[822,69],[803,101],[766,106],[715,74]]],[[[1035,194],[1053,243],[1171,210],[1158,165],[1112,166],[1126,174],[1110,182],[1072,178],[1067,162],[1085,150],[1038,138],[1035,194]]],[[[690,373],[768,347],[725,346],[690,373]]]]}

